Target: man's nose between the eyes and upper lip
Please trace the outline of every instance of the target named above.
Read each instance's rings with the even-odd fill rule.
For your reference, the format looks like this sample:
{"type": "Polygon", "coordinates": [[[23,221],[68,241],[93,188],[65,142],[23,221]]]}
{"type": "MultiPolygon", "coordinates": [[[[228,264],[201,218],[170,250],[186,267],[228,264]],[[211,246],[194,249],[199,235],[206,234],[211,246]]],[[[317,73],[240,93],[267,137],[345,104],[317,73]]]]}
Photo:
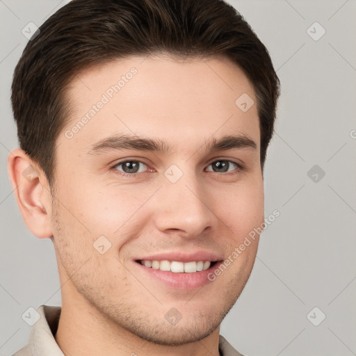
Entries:
{"type": "Polygon", "coordinates": [[[196,237],[216,223],[209,205],[209,193],[194,174],[184,174],[172,183],[163,177],[163,186],[154,197],[154,222],[161,232],[196,237]]]}

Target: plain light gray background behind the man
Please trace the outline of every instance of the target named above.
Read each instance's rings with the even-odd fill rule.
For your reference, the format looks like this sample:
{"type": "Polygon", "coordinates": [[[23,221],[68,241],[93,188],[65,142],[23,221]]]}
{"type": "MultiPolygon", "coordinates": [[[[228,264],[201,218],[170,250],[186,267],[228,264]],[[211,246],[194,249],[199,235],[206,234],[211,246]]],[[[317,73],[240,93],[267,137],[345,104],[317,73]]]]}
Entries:
{"type": "MultiPolygon", "coordinates": [[[[0,355],[27,343],[26,309],[61,302],[53,245],[24,225],[6,162],[17,147],[10,83],[27,42],[22,29],[66,2],[0,0],[0,355]]],[[[280,217],[261,235],[250,280],[220,333],[246,356],[356,355],[356,2],[229,3],[266,44],[282,82],[265,171],[266,216],[277,209],[280,217]],[[326,31],[318,40],[308,34],[321,34],[309,29],[314,22],[326,31]],[[314,165],[319,172],[309,177],[314,165]]]]}

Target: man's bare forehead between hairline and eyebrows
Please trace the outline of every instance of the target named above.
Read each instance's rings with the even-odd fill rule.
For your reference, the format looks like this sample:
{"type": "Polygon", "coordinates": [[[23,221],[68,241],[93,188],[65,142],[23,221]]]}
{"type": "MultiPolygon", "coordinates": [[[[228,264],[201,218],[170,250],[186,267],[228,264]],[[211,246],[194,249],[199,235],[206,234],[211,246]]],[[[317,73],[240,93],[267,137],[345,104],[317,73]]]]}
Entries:
{"type": "Polygon", "coordinates": [[[113,133],[165,136],[171,143],[197,133],[242,133],[259,142],[257,105],[248,111],[238,106],[241,97],[256,103],[252,84],[225,57],[112,60],[79,72],[65,97],[71,115],[63,134],[70,130],[70,145],[78,149],[113,133]]]}

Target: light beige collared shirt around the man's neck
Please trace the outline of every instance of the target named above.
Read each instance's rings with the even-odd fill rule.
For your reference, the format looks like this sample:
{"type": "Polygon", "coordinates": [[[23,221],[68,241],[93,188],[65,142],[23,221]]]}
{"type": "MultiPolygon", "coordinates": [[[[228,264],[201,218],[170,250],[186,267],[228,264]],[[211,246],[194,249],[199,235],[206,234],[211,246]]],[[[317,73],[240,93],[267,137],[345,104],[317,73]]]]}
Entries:
{"type": "MultiPolygon", "coordinates": [[[[38,308],[40,318],[32,327],[29,343],[13,356],[64,356],[54,339],[60,311],[61,307],[41,305],[38,308]]],[[[219,352],[221,356],[243,356],[221,335],[219,335],[219,352]]]]}

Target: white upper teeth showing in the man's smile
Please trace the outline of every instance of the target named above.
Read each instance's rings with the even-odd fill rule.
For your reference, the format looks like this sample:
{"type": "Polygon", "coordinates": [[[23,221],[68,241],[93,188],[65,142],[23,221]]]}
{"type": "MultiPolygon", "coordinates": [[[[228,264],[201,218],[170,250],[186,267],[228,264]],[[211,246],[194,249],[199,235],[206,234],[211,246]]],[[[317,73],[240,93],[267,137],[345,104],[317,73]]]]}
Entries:
{"type": "Polygon", "coordinates": [[[175,273],[193,273],[200,272],[201,270],[207,270],[211,262],[210,261],[193,261],[193,262],[179,262],[179,261],[149,261],[143,259],[140,261],[146,267],[154,268],[155,270],[168,270],[175,273]]]}

